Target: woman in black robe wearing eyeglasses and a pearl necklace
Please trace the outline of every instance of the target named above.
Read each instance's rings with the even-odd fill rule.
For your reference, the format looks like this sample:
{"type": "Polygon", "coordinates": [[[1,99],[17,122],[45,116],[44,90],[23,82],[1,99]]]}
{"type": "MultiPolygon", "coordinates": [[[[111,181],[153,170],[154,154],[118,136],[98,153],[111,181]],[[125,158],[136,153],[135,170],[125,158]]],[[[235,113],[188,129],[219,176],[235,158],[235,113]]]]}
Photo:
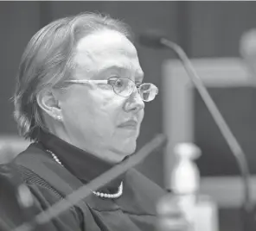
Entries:
{"type": "MultiPolygon", "coordinates": [[[[14,160],[36,213],[136,149],[144,102],[157,95],[124,23],[80,14],[29,41],[16,79],[15,118],[33,143],[14,160]]],[[[155,230],[164,191],[134,169],[47,224],[45,230],[155,230]]]]}

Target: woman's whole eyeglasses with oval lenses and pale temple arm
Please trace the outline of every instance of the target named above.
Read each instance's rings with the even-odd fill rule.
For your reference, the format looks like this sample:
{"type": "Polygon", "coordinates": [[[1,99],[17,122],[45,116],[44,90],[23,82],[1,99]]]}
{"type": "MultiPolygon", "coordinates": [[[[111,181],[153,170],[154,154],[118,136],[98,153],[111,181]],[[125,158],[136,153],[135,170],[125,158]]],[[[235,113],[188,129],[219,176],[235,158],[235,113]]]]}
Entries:
{"type": "Polygon", "coordinates": [[[120,97],[130,97],[135,88],[138,89],[138,93],[143,101],[150,102],[158,94],[158,88],[154,84],[144,83],[135,84],[130,78],[110,78],[107,80],[87,80],[87,79],[71,79],[65,81],[66,83],[74,84],[110,84],[112,85],[113,91],[120,97]]]}

